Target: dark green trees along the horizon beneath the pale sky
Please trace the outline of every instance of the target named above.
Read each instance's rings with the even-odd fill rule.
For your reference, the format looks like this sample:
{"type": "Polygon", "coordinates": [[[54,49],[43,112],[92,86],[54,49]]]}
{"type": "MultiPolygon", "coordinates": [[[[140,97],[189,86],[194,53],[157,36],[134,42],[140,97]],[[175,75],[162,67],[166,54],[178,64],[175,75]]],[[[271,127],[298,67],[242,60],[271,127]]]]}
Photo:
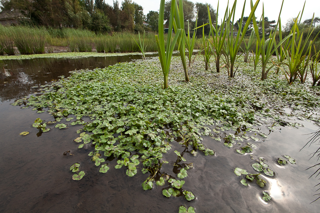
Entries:
{"type": "MultiPolygon", "coordinates": [[[[116,32],[142,32],[158,30],[158,11],[149,11],[145,16],[143,7],[132,2],[132,0],[123,0],[120,4],[118,0],[113,1],[113,5],[106,4],[104,0],[0,0],[1,11],[19,11],[27,19],[21,19],[20,24],[46,27],[72,27],[76,29],[89,29],[96,33],[104,33],[110,31],[116,32]],[[148,25],[143,25],[146,22],[148,25]]],[[[171,0],[165,2],[164,5],[164,21],[165,27],[169,26],[167,20],[170,17],[171,0]]],[[[208,7],[212,20],[216,19],[216,10],[211,4],[193,3],[183,0],[183,12],[185,21],[185,31],[195,27],[195,19],[197,18],[198,26],[209,23],[208,7]]],[[[242,27],[248,17],[244,17],[242,27]]],[[[257,17],[256,17],[257,19],[257,17]]],[[[307,19],[302,23],[309,25],[311,19],[307,19]]],[[[238,29],[240,19],[235,23],[238,29]]],[[[319,18],[313,20],[314,25],[320,22],[319,18]]],[[[258,22],[259,23],[259,22],[258,22]]],[[[268,34],[275,28],[275,20],[264,18],[265,33],[268,34]]],[[[293,21],[289,20],[284,31],[290,32],[293,21]]],[[[252,21],[248,29],[252,29],[252,21]]],[[[259,32],[262,33],[262,24],[259,25],[259,32]]],[[[318,27],[319,28],[319,27],[318,27]]],[[[204,33],[208,34],[210,27],[204,27],[204,33]]],[[[317,31],[317,30],[316,30],[317,31]]],[[[250,31],[247,32],[250,34],[250,31]]],[[[197,31],[197,35],[202,35],[201,30],[197,31]]]]}

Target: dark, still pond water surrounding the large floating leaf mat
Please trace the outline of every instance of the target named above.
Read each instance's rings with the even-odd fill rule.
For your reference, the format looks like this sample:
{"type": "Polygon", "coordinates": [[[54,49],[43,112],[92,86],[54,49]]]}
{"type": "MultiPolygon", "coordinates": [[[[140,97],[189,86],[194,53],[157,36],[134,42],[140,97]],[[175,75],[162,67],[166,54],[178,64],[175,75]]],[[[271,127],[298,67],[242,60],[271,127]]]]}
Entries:
{"type": "MultiPolygon", "coordinates": [[[[252,155],[266,159],[275,172],[273,177],[261,175],[267,180],[264,188],[254,183],[243,186],[241,178],[234,173],[236,167],[256,173],[251,166],[255,162],[249,154],[239,155],[235,148],[227,148],[223,142],[204,136],[203,143],[215,150],[216,155],[204,156],[198,152],[194,157],[184,154],[186,163],[194,165],[194,169],[188,170],[183,185],[185,190],[196,195],[195,200],[188,202],[181,196],[164,197],[162,189],[166,185],[158,187],[154,184],[152,190],[144,191],[141,183],[148,174],[138,169],[135,176],[128,177],[126,169],[114,168],[115,160],[107,162],[110,163],[107,173],[100,173],[99,167],[90,162],[91,157],[88,156],[93,147],[88,145],[78,149],[78,144],[73,141],[78,137],[76,130],[79,126],[69,125],[66,129],[49,126],[52,128],[49,132],[37,135],[38,130],[32,127],[33,121],[39,117],[49,121],[52,117],[47,112],[38,114],[31,109],[21,109],[23,106],[10,105],[21,97],[39,92],[40,88],[33,86],[59,79],[60,75],[68,76],[69,71],[105,67],[140,58],[130,55],[5,61],[5,69],[10,75],[5,75],[0,83],[0,212],[178,212],[180,205],[193,206],[197,213],[319,212],[320,199],[311,203],[317,198],[313,195],[319,180],[309,179],[319,167],[305,171],[317,164],[316,158],[309,158],[319,146],[312,144],[300,151],[308,142],[310,135],[307,134],[318,130],[312,122],[284,116],[284,120],[301,123],[303,127],[280,126],[274,131],[270,131],[266,124],[255,127],[261,128],[269,138],[254,142],[258,148],[252,155]],[[30,133],[19,135],[24,131],[30,133]],[[72,155],[63,155],[65,151],[72,155]],[[276,159],[284,155],[293,157],[297,164],[276,164],[276,159]],[[70,165],[76,162],[86,173],[80,181],[72,180],[73,173],[69,171],[70,165]],[[261,200],[262,191],[270,193],[270,202],[261,200]]],[[[290,113],[290,109],[281,111],[290,113]]],[[[248,142],[253,141],[250,139],[248,142]]],[[[161,172],[174,175],[173,163],[177,157],[173,151],[183,152],[184,149],[172,142],[172,149],[164,154],[169,164],[163,164],[161,172]]]]}

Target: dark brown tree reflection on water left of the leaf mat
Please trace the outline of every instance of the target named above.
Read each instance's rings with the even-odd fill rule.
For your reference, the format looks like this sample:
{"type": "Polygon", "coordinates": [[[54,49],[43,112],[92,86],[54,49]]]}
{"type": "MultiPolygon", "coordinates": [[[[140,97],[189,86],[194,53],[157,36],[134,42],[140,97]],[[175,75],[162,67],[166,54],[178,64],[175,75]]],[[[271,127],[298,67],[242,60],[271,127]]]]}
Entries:
{"type": "MultiPolygon", "coordinates": [[[[157,54],[146,55],[146,57],[155,56],[157,54]]],[[[34,92],[31,87],[58,80],[58,76],[61,75],[69,76],[69,72],[73,70],[104,68],[136,59],[142,59],[142,56],[3,60],[3,65],[0,67],[0,101],[28,96],[34,92]]]]}

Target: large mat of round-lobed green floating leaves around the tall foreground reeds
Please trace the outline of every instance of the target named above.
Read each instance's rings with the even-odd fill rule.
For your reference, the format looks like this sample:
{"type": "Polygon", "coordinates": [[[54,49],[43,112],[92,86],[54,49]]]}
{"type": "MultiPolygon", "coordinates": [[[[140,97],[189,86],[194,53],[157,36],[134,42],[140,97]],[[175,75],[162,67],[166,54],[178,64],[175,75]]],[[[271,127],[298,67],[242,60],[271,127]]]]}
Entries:
{"type": "MultiPolygon", "coordinates": [[[[250,174],[250,167],[236,167],[235,176],[241,176],[239,184],[263,188],[268,183],[260,174],[273,177],[276,171],[267,159],[252,155],[258,144],[268,139],[268,133],[262,133],[259,126],[267,126],[270,132],[279,126],[302,126],[284,120],[292,116],[319,124],[319,88],[310,87],[308,82],[289,86],[272,73],[269,79],[260,81],[259,69],[253,71],[253,65],[240,60],[243,58],[237,62],[234,79],[205,71],[203,62],[196,60],[189,68],[190,83],[186,83],[182,81],[180,60],[173,57],[168,89],[161,86],[163,74],[158,58],[73,71],[70,77],[61,76],[61,80],[41,86],[38,94],[13,105],[32,107],[38,113],[47,110],[54,117],[49,122],[36,119],[33,126],[40,135],[51,128],[79,126],[74,141],[78,148],[86,144],[94,147],[89,154],[92,166],[100,167],[102,173],[111,166],[124,169],[130,177],[137,172],[147,173],[149,177],[140,183],[141,187],[163,187],[165,197],[183,196],[188,201],[196,198],[184,187],[193,168],[193,163],[185,163],[185,156],[216,154],[202,143],[203,137],[223,142],[226,149],[235,149],[235,155],[251,155],[256,163],[250,167],[259,173],[250,174]],[[161,170],[162,164],[169,163],[166,153],[173,143],[185,147],[183,152],[171,152],[177,158],[172,164],[175,174],[161,170]]],[[[271,160],[279,166],[296,163],[290,156],[271,160]]],[[[70,178],[81,181],[87,171],[74,162],[70,172],[75,172],[70,178]]],[[[272,200],[268,192],[263,192],[261,199],[272,200]]],[[[180,211],[187,212],[187,207],[181,206],[180,211]]],[[[188,212],[194,212],[193,207],[188,212]]]]}

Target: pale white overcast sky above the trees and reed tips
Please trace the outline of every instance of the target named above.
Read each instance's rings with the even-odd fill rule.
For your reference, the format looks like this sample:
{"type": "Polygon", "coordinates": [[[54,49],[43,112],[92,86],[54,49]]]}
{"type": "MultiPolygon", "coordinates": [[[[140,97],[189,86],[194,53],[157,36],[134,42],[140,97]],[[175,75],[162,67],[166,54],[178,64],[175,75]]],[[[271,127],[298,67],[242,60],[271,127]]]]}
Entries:
{"type": "MultiPolygon", "coordinates": [[[[121,2],[122,0],[118,0],[121,2]]],[[[209,3],[212,5],[213,9],[217,9],[218,0],[191,0],[192,2],[201,2],[201,3],[209,3]]],[[[253,0],[255,2],[256,0],[253,0]]],[[[113,0],[105,0],[107,4],[113,5],[113,0]]],[[[140,4],[143,7],[143,12],[145,15],[148,14],[149,11],[158,11],[160,8],[160,0],[132,0],[137,4],[140,4]]],[[[230,0],[229,7],[233,4],[234,0],[230,0]]],[[[224,15],[226,11],[228,1],[220,0],[219,2],[219,18],[224,15]]],[[[236,20],[241,18],[241,12],[243,8],[244,0],[237,0],[236,6],[236,20]]],[[[250,14],[250,0],[246,1],[246,7],[244,11],[244,16],[248,16],[250,14]]],[[[260,0],[258,8],[255,12],[256,17],[259,17],[262,14],[262,4],[264,4],[264,14],[269,18],[269,20],[278,20],[280,8],[282,1],[281,0],[260,0]]],[[[304,4],[304,0],[284,0],[284,5],[281,12],[281,24],[284,25],[288,19],[292,19],[297,17],[300,11],[302,11],[304,4]]],[[[315,13],[315,17],[320,17],[320,0],[306,0],[306,6],[303,11],[302,20],[311,19],[313,13],[315,13]]],[[[222,17],[223,18],[223,17],[222,17]]]]}

